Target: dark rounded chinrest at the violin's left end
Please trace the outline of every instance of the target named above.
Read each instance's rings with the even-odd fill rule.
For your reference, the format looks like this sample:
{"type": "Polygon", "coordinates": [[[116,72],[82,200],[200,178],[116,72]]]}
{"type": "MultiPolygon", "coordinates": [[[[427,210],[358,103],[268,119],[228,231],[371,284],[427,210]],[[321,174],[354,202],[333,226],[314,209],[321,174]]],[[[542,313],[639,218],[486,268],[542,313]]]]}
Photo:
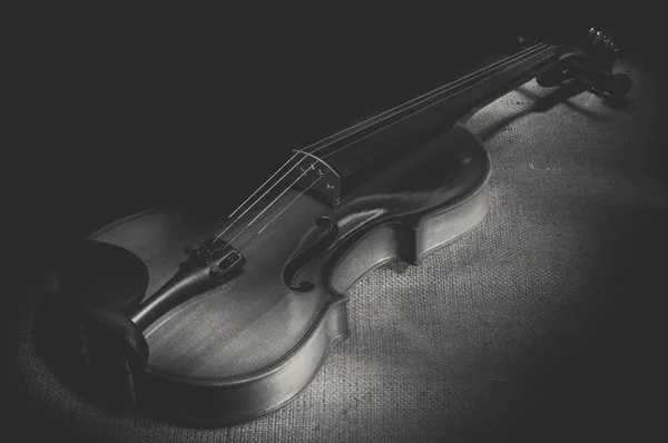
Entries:
{"type": "Polygon", "coordinates": [[[128,317],[148,282],[141,258],[102,242],[72,245],[60,264],[60,292],[77,317],[84,365],[111,406],[135,404],[132,370],[148,361],[146,338],[128,317]]]}

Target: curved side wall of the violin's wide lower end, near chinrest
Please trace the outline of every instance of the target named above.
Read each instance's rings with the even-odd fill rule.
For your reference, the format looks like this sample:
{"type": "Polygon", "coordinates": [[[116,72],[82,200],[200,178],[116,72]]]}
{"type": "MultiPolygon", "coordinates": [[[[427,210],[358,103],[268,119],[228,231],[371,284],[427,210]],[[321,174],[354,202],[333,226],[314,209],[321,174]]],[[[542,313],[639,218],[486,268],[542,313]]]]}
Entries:
{"type": "Polygon", "coordinates": [[[331,347],[348,337],[346,301],[340,297],[331,303],[298,352],[269,371],[238,381],[188,378],[179,383],[147,367],[138,384],[139,406],[160,420],[198,426],[243,423],[281,408],[308,386],[331,347]]]}

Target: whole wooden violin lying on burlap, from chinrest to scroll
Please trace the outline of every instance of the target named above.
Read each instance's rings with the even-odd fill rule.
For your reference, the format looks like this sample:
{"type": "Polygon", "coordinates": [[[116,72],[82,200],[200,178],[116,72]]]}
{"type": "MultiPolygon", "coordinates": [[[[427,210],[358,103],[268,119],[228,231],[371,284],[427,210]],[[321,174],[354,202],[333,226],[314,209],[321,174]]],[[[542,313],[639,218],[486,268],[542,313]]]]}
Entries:
{"type": "Polygon", "coordinates": [[[463,122],[518,86],[625,96],[618,49],[520,39],[511,56],[295,149],[243,204],[189,220],[159,207],[70,245],[59,268],[80,363],[101,403],[230,425],[288,404],[348,336],[346,292],[369,272],[466,235],[492,165],[463,122]]]}

